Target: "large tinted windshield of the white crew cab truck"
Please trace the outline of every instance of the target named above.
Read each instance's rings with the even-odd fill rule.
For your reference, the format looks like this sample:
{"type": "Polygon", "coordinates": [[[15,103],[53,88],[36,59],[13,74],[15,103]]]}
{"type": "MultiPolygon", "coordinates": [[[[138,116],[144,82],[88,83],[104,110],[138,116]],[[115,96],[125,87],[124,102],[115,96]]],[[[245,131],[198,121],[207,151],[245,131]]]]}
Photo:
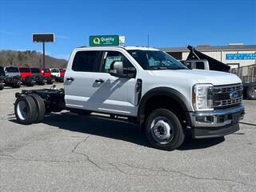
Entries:
{"type": "Polygon", "coordinates": [[[143,70],[187,70],[175,58],[160,50],[128,50],[143,70]]]}

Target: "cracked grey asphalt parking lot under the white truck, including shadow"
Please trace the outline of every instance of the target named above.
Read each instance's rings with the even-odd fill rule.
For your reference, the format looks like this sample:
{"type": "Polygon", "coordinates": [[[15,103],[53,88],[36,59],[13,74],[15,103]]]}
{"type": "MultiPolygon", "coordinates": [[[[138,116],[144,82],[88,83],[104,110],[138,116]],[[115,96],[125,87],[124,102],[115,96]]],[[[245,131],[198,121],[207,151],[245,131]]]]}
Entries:
{"type": "Polygon", "coordinates": [[[0,91],[0,191],[256,191],[256,101],[225,140],[168,152],[127,122],[64,111],[18,124],[14,93],[38,87],[0,91]]]}

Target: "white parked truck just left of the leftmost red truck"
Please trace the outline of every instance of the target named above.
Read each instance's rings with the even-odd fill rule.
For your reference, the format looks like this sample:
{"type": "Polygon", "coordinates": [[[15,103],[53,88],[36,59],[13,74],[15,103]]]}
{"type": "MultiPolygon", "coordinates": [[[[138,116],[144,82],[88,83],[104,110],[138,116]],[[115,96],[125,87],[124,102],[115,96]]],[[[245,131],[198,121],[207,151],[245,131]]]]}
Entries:
{"type": "Polygon", "coordinates": [[[22,84],[21,74],[17,66],[5,66],[5,86],[19,88],[22,84]]]}

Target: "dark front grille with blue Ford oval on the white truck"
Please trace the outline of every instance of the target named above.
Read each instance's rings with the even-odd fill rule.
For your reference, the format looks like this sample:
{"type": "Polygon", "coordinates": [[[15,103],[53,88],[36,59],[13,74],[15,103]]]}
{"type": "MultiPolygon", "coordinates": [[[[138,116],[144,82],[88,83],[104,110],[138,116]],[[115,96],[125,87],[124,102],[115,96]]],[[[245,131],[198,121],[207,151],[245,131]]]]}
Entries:
{"type": "Polygon", "coordinates": [[[212,90],[212,99],[214,108],[235,106],[242,102],[242,84],[214,86],[212,90]],[[234,93],[236,91],[236,93],[234,93]],[[232,94],[236,97],[232,97],[232,94]]]}

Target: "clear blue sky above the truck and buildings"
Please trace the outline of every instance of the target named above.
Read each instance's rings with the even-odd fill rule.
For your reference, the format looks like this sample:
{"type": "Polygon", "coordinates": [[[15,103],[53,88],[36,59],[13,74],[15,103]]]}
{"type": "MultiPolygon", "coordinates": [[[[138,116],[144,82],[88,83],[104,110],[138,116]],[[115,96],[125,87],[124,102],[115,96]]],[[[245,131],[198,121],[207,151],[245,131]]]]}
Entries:
{"type": "Polygon", "coordinates": [[[68,58],[93,34],[122,34],[126,46],[256,44],[255,0],[0,0],[0,50],[42,50],[33,33],[54,32],[46,53],[68,58]]]}

